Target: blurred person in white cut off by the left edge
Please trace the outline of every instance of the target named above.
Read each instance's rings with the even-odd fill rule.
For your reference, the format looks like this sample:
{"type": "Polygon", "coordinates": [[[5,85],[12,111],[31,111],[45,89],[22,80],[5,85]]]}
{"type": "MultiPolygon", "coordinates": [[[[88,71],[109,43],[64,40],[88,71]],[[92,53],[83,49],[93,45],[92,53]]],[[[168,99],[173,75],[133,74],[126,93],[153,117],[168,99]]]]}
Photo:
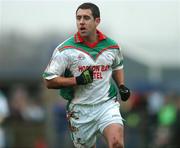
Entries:
{"type": "Polygon", "coordinates": [[[4,119],[9,115],[9,108],[7,103],[7,98],[0,91],[0,148],[5,147],[5,131],[2,126],[4,119]]]}

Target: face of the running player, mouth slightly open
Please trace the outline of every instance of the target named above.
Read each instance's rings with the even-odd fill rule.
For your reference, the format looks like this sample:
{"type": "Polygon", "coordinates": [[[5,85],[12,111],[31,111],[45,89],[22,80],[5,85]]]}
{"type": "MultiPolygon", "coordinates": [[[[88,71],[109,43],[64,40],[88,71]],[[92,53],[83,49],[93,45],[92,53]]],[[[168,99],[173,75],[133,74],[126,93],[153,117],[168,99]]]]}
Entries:
{"type": "Polygon", "coordinates": [[[96,27],[99,23],[100,18],[94,19],[90,9],[79,9],[76,13],[77,29],[82,37],[96,33],[96,27]]]}

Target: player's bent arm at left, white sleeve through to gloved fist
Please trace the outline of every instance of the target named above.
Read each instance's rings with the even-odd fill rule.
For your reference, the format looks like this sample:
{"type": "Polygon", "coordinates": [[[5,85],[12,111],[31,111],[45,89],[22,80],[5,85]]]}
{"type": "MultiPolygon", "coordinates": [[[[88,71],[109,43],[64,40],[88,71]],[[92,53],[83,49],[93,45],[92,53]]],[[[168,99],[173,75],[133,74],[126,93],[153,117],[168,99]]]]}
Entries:
{"type": "Polygon", "coordinates": [[[60,89],[63,87],[85,85],[93,82],[93,71],[88,68],[77,77],[63,76],[68,66],[68,57],[56,52],[53,54],[50,63],[43,73],[44,82],[49,89],[60,89]]]}

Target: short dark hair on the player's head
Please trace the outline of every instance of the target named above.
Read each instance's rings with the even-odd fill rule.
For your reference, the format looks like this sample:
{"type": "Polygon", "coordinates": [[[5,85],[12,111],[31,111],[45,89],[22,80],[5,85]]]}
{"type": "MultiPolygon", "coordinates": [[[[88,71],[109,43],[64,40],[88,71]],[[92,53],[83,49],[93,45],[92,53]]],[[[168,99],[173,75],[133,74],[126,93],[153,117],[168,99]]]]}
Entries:
{"type": "Polygon", "coordinates": [[[93,3],[83,3],[83,4],[81,4],[81,5],[77,8],[76,14],[77,14],[77,11],[78,11],[79,9],[90,9],[91,12],[92,12],[92,15],[93,15],[94,19],[100,17],[99,7],[96,6],[96,5],[93,4],[93,3]]]}

